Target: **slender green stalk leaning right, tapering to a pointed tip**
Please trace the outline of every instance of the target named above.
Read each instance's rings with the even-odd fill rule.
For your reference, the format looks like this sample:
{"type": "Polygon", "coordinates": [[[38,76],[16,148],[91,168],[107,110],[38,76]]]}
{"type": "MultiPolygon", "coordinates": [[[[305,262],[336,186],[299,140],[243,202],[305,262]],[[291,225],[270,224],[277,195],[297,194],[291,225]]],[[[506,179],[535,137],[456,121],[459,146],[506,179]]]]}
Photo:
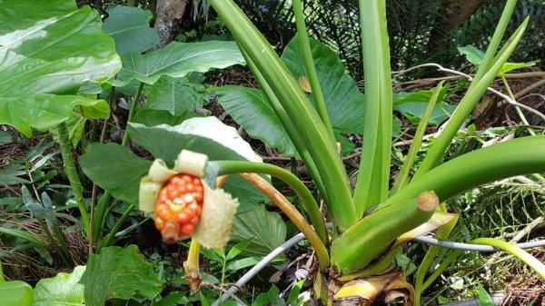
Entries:
{"type": "MultiPolygon", "coordinates": [[[[481,78],[476,78],[471,83],[467,93],[461,99],[461,102],[454,111],[454,114],[452,114],[449,123],[447,123],[445,129],[441,132],[439,138],[435,140],[430,151],[424,158],[424,161],[421,163],[417,173],[414,174],[413,180],[419,178],[420,175],[429,172],[431,169],[441,163],[445,151],[451,144],[452,138],[454,138],[456,133],[458,133],[461,124],[464,123],[475,106],[481,101],[482,95],[486,92],[488,86],[490,86],[496,75],[500,72],[501,66],[509,59],[510,54],[519,43],[520,37],[522,37],[526,25],[528,25],[528,18],[526,18],[522,25],[519,26],[517,31],[511,35],[510,41],[506,43],[503,48],[501,48],[500,53],[494,58],[494,64],[490,66],[490,69],[482,73],[483,75],[481,78]]],[[[482,65],[479,68],[479,72],[481,72],[481,69],[483,69],[482,65]]]]}

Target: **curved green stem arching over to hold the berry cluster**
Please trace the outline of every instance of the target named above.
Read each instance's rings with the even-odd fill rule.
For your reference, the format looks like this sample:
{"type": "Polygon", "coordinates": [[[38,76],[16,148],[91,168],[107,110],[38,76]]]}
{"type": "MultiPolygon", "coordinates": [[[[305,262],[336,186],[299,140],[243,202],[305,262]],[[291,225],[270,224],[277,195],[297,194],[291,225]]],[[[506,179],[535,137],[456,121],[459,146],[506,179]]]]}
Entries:
{"type": "Polygon", "coordinates": [[[309,214],[314,231],[318,233],[323,243],[327,242],[327,232],[323,222],[322,212],[318,203],[312,197],[312,192],[295,175],[268,163],[252,163],[238,161],[214,161],[209,162],[210,167],[217,167],[218,175],[234,173],[262,173],[276,177],[292,187],[293,191],[301,198],[304,210],[309,214]]]}

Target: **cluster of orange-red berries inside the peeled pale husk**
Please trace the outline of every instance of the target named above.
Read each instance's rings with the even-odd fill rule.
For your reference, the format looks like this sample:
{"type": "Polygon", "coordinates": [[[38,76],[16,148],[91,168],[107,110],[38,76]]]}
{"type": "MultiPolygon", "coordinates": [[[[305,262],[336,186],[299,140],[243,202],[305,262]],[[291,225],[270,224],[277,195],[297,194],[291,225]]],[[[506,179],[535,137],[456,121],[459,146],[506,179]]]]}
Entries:
{"type": "Polygon", "coordinates": [[[155,204],[155,227],[163,242],[173,243],[193,233],[201,220],[203,196],[201,179],[191,174],[175,175],[164,184],[155,204]]]}

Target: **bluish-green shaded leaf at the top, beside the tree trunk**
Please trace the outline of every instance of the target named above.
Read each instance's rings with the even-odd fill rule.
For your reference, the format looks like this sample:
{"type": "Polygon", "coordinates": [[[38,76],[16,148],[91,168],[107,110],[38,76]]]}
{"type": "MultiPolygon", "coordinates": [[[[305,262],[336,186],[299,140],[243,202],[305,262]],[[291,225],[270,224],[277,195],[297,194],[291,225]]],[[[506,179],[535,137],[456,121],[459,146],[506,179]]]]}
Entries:
{"type": "Polygon", "coordinates": [[[152,12],[124,5],[110,6],[106,12],[104,32],[114,37],[118,54],[140,54],[159,43],[159,35],[150,27],[152,12]]]}

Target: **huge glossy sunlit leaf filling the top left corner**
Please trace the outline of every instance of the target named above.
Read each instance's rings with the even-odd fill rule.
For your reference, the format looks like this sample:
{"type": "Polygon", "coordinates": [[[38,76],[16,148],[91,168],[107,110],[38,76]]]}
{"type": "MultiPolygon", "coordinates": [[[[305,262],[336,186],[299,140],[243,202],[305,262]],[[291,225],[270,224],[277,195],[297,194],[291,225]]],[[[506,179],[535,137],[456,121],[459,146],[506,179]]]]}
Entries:
{"type": "Polygon", "coordinates": [[[100,15],[73,0],[5,0],[0,11],[0,123],[25,136],[73,116],[109,116],[108,104],[77,96],[86,82],[101,83],[121,68],[100,15]],[[25,15],[25,18],[15,16],[25,15]],[[80,107],[75,107],[78,105],[80,107]]]}

